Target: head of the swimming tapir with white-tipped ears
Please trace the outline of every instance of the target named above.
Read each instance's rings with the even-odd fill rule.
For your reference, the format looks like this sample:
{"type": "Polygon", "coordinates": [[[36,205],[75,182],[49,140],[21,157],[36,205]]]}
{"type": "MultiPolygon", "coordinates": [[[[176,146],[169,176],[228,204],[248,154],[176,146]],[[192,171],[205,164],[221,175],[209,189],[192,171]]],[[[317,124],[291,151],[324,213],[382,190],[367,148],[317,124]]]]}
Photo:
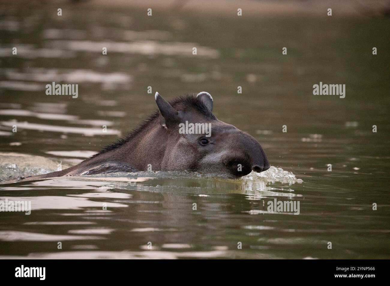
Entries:
{"type": "Polygon", "coordinates": [[[259,142],[213,114],[213,98],[207,92],[168,103],[156,93],[160,125],[168,134],[162,171],[189,170],[241,177],[252,170],[268,170],[259,142]]]}

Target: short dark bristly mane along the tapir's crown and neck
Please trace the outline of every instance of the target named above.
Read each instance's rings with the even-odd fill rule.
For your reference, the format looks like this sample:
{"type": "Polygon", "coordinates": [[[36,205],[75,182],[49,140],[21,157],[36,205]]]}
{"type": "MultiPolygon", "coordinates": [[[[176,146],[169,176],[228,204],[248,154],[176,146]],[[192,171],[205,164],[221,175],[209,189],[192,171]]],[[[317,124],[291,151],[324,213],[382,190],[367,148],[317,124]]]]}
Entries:
{"type": "MultiPolygon", "coordinates": [[[[204,105],[202,100],[197,98],[196,94],[194,93],[177,97],[171,100],[169,104],[172,105],[172,107],[174,107],[174,109],[176,109],[177,111],[184,110],[184,109],[193,109],[199,112],[200,114],[202,114],[203,116],[205,116],[207,119],[211,119],[211,120],[216,119],[213,112],[209,111],[209,109],[207,109],[206,105],[204,105]]],[[[99,151],[99,153],[92,155],[90,158],[93,158],[99,154],[121,147],[123,144],[125,144],[126,142],[128,142],[129,140],[137,136],[142,130],[145,130],[147,126],[149,126],[154,119],[158,118],[159,114],[160,111],[158,111],[157,109],[151,115],[149,115],[144,121],[142,121],[140,125],[138,125],[135,129],[133,129],[133,131],[131,131],[128,135],[120,138],[119,140],[113,142],[112,144],[105,146],[101,151],[99,151]]]]}

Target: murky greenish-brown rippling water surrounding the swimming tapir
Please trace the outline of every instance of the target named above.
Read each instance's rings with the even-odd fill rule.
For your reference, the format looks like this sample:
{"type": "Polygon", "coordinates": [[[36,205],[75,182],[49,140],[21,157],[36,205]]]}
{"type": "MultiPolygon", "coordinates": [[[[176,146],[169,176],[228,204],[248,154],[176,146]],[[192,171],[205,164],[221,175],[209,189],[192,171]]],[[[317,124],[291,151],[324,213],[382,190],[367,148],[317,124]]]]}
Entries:
{"type": "Polygon", "coordinates": [[[273,167],[238,181],[158,172],[1,184],[0,200],[32,207],[0,212],[2,258],[390,257],[388,19],[51,9],[0,9],[2,180],[78,163],[151,113],[155,91],[208,91],[217,118],[259,140],[273,167]],[[79,84],[78,98],[46,95],[52,81],[79,84]],[[346,84],[346,97],[313,95],[320,81],[346,84]],[[268,212],[275,198],[300,202],[299,215],[268,212]]]}

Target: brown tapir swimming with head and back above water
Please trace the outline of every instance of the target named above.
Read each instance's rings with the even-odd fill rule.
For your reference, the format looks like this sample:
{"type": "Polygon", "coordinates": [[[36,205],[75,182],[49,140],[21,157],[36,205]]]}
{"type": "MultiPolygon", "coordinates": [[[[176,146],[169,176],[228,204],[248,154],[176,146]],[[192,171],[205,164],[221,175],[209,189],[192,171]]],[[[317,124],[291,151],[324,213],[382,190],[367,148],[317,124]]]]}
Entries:
{"type": "Polygon", "coordinates": [[[26,179],[140,171],[194,171],[238,178],[252,170],[268,170],[259,142],[218,120],[209,93],[188,94],[170,102],[156,93],[155,100],[158,110],[126,137],[78,165],[26,179]],[[204,123],[210,128],[207,134],[193,132],[193,128],[183,132],[179,126],[184,123],[204,123]]]}

